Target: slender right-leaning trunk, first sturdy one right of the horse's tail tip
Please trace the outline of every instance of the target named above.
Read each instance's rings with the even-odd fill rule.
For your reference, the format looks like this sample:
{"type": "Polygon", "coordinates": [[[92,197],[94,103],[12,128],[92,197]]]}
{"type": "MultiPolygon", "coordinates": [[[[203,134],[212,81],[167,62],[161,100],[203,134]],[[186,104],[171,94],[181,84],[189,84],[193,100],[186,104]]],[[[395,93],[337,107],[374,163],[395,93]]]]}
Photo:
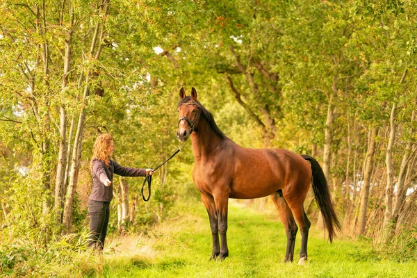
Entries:
{"type": "Polygon", "coordinates": [[[356,233],[361,235],[365,233],[366,228],[366,210],[368,208],[370,178],[373,172],[373,156],[375,154],[375,138],[377,137],[378,129],[376,126],[370,128],[370,136],[368,140],[368,151],[366,154],[365,169],[363,172],[363,186],[361,189],[361,203],[359,206],[359,216],[356,233]]]}

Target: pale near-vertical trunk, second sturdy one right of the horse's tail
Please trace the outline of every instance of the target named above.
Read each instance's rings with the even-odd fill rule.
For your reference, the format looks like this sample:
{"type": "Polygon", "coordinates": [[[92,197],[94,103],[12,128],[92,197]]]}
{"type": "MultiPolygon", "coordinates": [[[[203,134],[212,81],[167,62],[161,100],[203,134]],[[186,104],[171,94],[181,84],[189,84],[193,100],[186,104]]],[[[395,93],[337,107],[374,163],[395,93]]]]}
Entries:
{"type": "Polygon", "coordinates": [[[393,181],[394,181],[394,165],[393,165],[393,145],[395,139],[395,109],[397,104],[393,103],[393,108],[391,109],[391,116],[389,124],[391,129],[389,131],[389,141],[388,146],[386,147],[386,188],[385,188],[385,212],[384,212],[384,227],[382,240],[386,242],[389,240],[389,231],[391,231],[391,221],[393,215],[393,181]]]}

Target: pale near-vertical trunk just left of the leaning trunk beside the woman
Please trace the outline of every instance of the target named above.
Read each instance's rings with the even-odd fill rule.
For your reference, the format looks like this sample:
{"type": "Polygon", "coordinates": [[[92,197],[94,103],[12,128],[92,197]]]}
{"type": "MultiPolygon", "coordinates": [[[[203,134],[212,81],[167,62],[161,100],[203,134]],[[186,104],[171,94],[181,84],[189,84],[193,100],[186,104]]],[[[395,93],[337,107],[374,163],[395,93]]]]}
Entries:
{"type": "MultiPolygon", "coordinates": [[[[70,26],[67,31],[67,38],[65,40],[65,57],[64,57],[64,73],[63,83],[61,90],[64,91],[68,84],[68,74],[70,73],[70,62],[71,62],[71,44],[72,44],[72,28],[74,25],[74,15],[72,8],[70,8],[70,26]]],[[[65,182],[65,169],[67,164],[67,111],[65,105],[60,105],[60,142],[59,142],[59,153],[58,153],[58,165],[56,167],[56,179],[55,179],[55,212],[58,222],[61,222],[61,209],[62,209],[62,197],[63,185],[65,182]]]]}

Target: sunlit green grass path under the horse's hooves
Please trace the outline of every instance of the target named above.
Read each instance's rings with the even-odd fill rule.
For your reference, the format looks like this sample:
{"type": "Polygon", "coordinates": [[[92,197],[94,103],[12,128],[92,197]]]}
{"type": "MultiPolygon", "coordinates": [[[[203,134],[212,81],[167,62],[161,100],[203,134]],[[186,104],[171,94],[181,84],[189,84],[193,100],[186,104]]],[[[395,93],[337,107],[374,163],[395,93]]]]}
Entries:
{"type": "MultiPolygon", "coordinates": [[[[283,263],[286,235],[275,213],[229,205],[229,258],[208,261],[211,232],[202,204],[158,226],[152,236],[113,238],[103,256],[81,254],[64,272],[82,277],[417,277],[414,262],[383,260],[364,240],[338,238],[330,244],[311,229],[309,260],[283,263]]],[[[63,273],[63,272],[61,272],[63,273]]]]}

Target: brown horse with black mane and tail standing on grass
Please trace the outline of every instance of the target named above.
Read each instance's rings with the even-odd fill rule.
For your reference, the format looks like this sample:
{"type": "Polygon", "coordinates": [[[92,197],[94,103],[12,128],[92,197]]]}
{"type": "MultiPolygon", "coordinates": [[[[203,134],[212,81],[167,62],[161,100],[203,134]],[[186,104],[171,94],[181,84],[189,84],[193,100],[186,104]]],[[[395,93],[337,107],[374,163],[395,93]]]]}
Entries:
{"type": "Polygon", "coordinates": [[[299,263],[304,264],[310,221],[303,203],[310,183],[313,183],[316,202],[332,242],[340,224],[325,175],[314,158],[286,149],[240,147],[220,131],[213,115],[197,101],[194,88],[190,96],[186,96],[181,88],[179,97],[177,137],[181,141],[191,137],[195,157],[193,180],[206,206],[213,236],[211,259],[223,260],[229,256],[226,236],[229,198],[252,199],[271,195],[286,229],[285,261],[293,261],[297,221],[302,238],[299,263]]]}

